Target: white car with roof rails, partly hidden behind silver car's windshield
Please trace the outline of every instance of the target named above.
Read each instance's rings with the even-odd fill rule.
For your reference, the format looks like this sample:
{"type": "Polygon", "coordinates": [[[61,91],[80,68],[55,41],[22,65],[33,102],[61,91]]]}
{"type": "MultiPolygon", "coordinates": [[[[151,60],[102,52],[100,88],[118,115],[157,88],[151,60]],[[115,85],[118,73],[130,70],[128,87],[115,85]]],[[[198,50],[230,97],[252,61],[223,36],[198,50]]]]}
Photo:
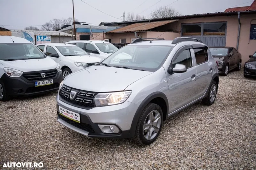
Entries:
{"type": "Polygon", "coordinates": [[[118,48],[116,48],[116,46],[113,44],[100,40],[75,40],[68,41],[65,44],[76,45],[84,49],[87,53],[100,57],[101,59],[107,58],[109,55],[118,50],[118,48]]]}

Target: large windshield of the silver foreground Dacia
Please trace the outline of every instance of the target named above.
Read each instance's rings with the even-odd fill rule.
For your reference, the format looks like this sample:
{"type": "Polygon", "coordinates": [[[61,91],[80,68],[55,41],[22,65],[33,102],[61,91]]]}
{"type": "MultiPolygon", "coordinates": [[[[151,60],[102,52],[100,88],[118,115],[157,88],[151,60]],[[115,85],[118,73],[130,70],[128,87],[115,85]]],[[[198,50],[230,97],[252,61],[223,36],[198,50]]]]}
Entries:
{"type": "Polygon", "coordinates": [[[106,58],[101,65],[156,71],[163,65],[172,48],[159,45],[126,45],[106,58]]]}

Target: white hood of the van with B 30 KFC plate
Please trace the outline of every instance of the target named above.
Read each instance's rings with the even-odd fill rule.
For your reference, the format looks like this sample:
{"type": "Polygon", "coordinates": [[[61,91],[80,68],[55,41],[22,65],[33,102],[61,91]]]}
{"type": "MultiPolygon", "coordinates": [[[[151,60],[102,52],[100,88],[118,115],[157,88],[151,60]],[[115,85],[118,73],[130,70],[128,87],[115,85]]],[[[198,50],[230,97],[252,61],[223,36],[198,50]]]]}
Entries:
{"type": "Polygon", "coordinates": [[[57,67],[57,63],[49,57],[30,60],[3,61],[4,67],[20,70],[22,72],[51,70],[57,67]]]}

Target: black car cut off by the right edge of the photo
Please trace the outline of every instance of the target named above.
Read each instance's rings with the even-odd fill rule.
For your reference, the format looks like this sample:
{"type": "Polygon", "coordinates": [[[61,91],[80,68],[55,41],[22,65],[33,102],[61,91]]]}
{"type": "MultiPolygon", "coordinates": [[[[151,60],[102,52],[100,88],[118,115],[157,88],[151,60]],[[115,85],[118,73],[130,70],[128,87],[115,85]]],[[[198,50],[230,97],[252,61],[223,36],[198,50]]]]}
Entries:
{"type": "Polygon", "coordinates": [[[256,52],[244,63],[244,77],[256,77],[256,52]]]}

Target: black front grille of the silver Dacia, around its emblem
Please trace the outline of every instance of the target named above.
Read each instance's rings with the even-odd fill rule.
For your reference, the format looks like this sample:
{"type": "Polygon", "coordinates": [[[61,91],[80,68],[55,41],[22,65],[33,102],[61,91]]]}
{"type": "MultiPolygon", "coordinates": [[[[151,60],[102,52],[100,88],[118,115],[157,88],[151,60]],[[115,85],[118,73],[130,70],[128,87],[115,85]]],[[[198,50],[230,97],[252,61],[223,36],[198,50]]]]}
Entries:
{"type": "Polygon", "coordinates": [[[81,91],[78,89],[74,89],[63,85],[59,95],[62,99],[66,100],[68,104],[71,104],[76,107],[84,108],[84,109],[91,109],[95,107],[94,105],[94,97],[96,96],[95,92],[88,92],[88,91],[81,91]],[[76,95],[74,99],[70,99],[70,92],[71,90],[76,91],[76,95]]]}

